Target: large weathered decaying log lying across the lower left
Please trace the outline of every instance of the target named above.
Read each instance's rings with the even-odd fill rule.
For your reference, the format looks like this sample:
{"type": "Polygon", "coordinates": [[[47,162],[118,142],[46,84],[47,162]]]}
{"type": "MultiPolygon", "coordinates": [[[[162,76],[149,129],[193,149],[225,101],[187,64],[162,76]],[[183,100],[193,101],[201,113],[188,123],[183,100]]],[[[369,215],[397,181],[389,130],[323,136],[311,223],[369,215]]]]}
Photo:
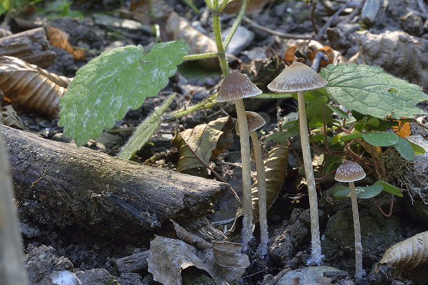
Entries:
{"type": "Polygon", "coordinates": [[[230,187],[6,126],[1,130],[19,210],[40,224],[142,241],[166,219],[204,217],[230,187]]]}

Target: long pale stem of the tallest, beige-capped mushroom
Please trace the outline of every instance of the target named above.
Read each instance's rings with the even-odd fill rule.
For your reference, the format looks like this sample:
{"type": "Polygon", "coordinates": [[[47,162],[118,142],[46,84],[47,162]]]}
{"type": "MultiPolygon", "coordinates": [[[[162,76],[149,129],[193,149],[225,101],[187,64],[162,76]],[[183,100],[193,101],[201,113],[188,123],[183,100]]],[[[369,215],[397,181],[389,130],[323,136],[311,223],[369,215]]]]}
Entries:
{"type": "Polygon", "coordinates": [[[304,92],[298,91],[298,107],[299,107],[299,128],[300,128],[300,143],[302,145],[302,156],[304,164],[304,173],[307,179],[309,193],[309,208],[311,211],[311,259],[316,264],[320,264],[322,259],[321,241],[320,241],[320,224],[318,222],[318,199],[315,188],[315,177],[313,175],[311,147],[309,146],[308,126],[306,106],[304,101],[304,92]]]}

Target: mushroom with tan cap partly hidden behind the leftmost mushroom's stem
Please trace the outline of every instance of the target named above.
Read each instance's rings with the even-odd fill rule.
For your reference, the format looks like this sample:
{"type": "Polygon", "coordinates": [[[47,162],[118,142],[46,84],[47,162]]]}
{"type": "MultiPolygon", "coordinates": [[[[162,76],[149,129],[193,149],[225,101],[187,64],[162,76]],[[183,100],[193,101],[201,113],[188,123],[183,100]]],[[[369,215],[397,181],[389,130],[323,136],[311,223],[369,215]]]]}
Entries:
{"type": "MultiPolygon", "coordinates": [[[[246,111],[246,121],[248,122],[251,140],[253,141],[255,167],[257,169],[257,197],[259,204],[259,222],[260,222],[260,254],[266,255],[268,231],[267,231],[267,217],[266,217],[266,174],[264,173],[264,162],[262,157],[262,150],[260,148],[260,141],[257,137],[255,130],[262,128],[266,121],[256,112],[246,111]]],[[[236,123],[236,134],[240,135],[239,122],[236,123]]]]}

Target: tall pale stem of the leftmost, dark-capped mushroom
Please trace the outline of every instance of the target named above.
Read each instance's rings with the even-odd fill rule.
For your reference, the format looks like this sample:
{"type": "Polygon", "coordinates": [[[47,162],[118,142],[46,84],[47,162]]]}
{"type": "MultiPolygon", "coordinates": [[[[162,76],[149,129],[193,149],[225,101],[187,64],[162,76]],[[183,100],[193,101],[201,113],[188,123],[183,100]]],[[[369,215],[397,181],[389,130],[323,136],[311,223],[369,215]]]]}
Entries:
{"type": "Polygon", "coordinates": [[[246,121],[244,100],[235,100],[237,121],[240,131],[241,161],[242,161],[242,207],[244,219],[242,222],[242,250],[246,251],[253,237],[253,206],[251,205],[251,154],[250,136],[246,121]]]}

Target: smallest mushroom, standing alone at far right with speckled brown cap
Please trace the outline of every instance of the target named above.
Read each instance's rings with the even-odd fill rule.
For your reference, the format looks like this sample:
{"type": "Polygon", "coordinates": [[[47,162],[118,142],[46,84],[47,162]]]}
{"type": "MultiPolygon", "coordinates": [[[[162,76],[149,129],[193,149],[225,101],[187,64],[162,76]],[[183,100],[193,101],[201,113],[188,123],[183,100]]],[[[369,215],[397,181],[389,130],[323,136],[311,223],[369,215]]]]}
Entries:
{"type": "Polygon", "coordinates": [[[358,181],[366,177],[366,173],[356,162],[351,160],[345,161],[341,166],[338,167],[335,174],[335,179],[340,182],[349,182],[349,193],[351,195],[352,204],[352,216],[353,216],[353,234],[356,244],[356,278],[360,279],[364,274],[362,270],[362,245],[361,245],[361,233],[360,233],[360,217],[358,216],[358,204],[356,188],[353,184],[354,181],[358,181]]]}

